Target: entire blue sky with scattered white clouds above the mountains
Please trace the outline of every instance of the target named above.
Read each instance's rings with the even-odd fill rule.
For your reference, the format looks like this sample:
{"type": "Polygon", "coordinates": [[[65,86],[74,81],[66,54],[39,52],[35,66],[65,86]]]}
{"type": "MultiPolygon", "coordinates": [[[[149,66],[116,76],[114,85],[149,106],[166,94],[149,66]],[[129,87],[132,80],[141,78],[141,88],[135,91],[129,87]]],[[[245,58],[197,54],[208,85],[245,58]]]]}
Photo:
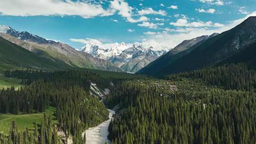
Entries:
{"type": "Polygon", "coordinates": [[[0,25],[80,48],[134,43],[170,49],[256,16],[256,0],[0,0],[0,25]]]}

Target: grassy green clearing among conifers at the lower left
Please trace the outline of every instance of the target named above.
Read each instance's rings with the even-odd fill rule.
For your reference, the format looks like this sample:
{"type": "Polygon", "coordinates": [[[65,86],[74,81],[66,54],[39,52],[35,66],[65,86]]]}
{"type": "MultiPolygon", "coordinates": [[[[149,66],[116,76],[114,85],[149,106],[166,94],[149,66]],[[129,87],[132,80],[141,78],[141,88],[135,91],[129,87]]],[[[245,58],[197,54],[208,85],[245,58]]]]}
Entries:
{"type": "MultiPolygon", "coordinates": [[[[53,122],[56,123],[57,119],[54,116],[56,108],[49,107],[46,109],[46,117],[52,115],[53,122]]],[[[15,121],[16,125],[18,126],[18,130],[24,130],[26,127],[29,129],[34,128],[34,124],[41,124],[42,118],[44,113],[37,113],[37,114],[24,114],[24,115],[13,115],[13,114],[0,114],[0,133],[8,134],[9,128],[11,126],[11,122],[15,121]]]]}

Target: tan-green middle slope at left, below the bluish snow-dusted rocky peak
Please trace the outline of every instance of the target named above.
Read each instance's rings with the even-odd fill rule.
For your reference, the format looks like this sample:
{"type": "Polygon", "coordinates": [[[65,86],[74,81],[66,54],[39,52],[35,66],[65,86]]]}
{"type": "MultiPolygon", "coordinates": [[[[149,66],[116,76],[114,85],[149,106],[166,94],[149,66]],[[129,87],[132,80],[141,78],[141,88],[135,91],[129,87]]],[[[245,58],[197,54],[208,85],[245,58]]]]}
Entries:
{"type": "Polygon", "coordinates": [[[112,63],[92,57],[90,54],[78,52],[69,45],[60,42],[54,44],[42,44],[29,40],[23,41],[8,34],[0,33],[0,36],[15,43],[27,50],[37,54],[40,57],[50,59],[56,62],[57,65],[65,63],[70,67],[89,68],[106,71],[120,72],[121,70],[112,63]]]}

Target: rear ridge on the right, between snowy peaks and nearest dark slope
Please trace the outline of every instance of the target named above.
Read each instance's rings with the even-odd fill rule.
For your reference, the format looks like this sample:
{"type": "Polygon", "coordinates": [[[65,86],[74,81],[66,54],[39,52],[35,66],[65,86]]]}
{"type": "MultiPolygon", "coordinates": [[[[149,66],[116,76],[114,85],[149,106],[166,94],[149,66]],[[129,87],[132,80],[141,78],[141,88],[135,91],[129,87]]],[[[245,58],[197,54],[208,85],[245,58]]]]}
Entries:
{"type": "Polygon", "coordinates": [[[148,64],[146,67],[138,71],[138,73],[155,75],[159,70],[167,67],[169,64],[173,63],[175,60],[183,57],[186,54],[189,54],[197,46],[201,45],[207,39],[217,36],[217,33],[214,33],[210,36],[199,36],[190,40],[184,40],[181,44],[174,47],[168,53],[162,55],[152,63],[148,64]]]}

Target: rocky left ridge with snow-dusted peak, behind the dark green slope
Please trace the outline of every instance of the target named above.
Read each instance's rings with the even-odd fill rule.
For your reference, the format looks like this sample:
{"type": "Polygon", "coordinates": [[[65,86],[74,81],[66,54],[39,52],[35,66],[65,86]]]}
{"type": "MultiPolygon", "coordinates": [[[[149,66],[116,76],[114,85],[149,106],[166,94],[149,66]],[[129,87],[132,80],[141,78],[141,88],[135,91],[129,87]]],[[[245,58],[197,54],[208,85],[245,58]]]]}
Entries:
{"type": "Polygon", "coordinates": [[[8,26],[0,26],[0,36],[41,57],[63,61],[72,67],[121,72],[121,69],[109,61],[77,51],[73,47],[61,42],[46,40],[43,37],[28,32],[18,32],[8,26]]]}

